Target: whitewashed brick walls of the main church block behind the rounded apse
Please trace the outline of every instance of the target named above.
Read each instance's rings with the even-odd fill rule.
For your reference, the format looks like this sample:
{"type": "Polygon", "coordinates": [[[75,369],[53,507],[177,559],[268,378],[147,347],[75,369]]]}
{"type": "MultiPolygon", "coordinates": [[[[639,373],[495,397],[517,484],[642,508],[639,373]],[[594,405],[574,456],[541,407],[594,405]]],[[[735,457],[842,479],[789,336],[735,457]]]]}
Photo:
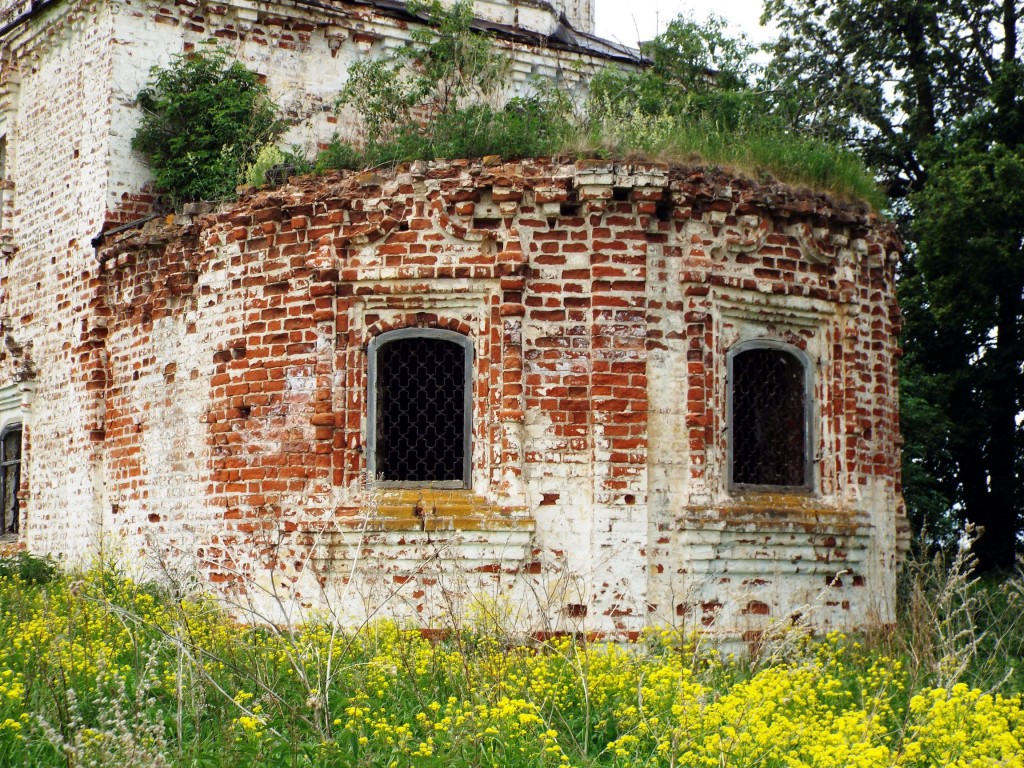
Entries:
{"type": "MultiPolygon", "coordinates": [[[[478,26],[514,60],[509,96],[535,79],[579,91],[586,73],[631,60],[587,34],[586,2],[489,0],[477,10],[478,26]]],[[[348,67],[407,44],[421,22],[398,0],[0,2],[0,387],[38,384],[45,393],[10,415],[25,423],[26,440],[33,428],[47,435],[20,488],[39,510],[37,549],[81,557],[110,525],[98,511],[108,509],[108,455],[96,426],[108,330],[91,304],[99,280],[91,242],[159,203],[131,151],[150,68],[211,41],[225,46],[295,121],[286,142],[313,156],[336,132],[357,135],[353,114],[333,108],[348,67]],[[34,480],[33,466],[63,470],[34,480]]]]}

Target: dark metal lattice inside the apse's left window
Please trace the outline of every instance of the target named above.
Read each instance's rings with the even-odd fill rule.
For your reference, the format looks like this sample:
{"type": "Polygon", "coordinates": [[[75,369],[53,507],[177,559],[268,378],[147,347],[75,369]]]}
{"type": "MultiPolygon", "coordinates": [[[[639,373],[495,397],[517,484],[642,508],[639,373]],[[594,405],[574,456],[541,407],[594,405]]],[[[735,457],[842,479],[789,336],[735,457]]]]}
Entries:
{"type": "Polygon", "coordinates": [[[462,481],[466,360],[443,339],[396,339],[377,352],[376,472],[385,481],[462,481]]]}

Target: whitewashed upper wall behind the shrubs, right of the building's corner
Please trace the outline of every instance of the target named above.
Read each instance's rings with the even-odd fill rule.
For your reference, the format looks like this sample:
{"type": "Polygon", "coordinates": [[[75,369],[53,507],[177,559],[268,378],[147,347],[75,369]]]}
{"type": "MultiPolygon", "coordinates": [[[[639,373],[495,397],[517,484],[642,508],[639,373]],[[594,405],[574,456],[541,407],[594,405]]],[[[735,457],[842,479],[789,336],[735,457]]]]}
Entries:
{"type": "MultiPolygon", "coordinates": [[[[484,10],[484,4],[479,5],[479,10],[484,10]]],[[[495,4],[495,14],[500,16],[510,8],[515,11],[519,6],[495,4]]],[[[522,3],[519,9],[551,18],[546,3],[536,7],[522,3]]],[[[131,137],[139,120],[135,95],[145,85],[150,68],[166,66],[185,45],[201,46],[213,41],[265,77],[271,97],[293,123],[282,143],[296,144],[314,157],[335,133],[353,138],[362,130],[350,108],[335,114],[334,102],[347,80],[348,68],[355,61],[400,48],[409,41],[406,23],[375,14],[365,6],[328,14],[274,3],[255,6],[241,0],[181,4],[173,10],[152,0],[123,0],[112,3],[110,12],[115,27],[108,190],[112,209],[150,178],[141,158],[131,151],[131,137]],[[282,18],[306,25],[309,31],[286,31],[279,24],[282,18]],[[213,37],[216,30],[227,30],[229,34],[213,37]]],[[[553,32],[554,25],[540,31],[553,32]]],[[[586,95],[586,76],[607,66],[606,59],[596,56],[496,42],[513,58],[501,99],[525,95],[536,83],[543,82],[557,83],[580,100],[586,95]]]]}

